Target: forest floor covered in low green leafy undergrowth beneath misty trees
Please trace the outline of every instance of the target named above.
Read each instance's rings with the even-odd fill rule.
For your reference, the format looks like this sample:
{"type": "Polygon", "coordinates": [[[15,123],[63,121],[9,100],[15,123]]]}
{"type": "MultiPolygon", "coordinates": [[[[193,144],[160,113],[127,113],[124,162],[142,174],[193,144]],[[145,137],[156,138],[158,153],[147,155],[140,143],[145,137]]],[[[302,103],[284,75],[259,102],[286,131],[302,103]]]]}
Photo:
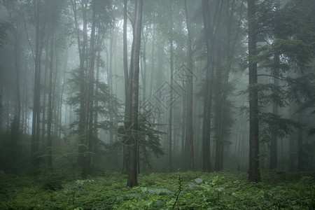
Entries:
{"type": "Polygon", "coordinates": [[[262,171],[262,183],[246,172],[174,172],[127,176],[102,172],[71,181],[54,174],[0,172],[0,209],[315,209],[315,173],[262,171]]]}

